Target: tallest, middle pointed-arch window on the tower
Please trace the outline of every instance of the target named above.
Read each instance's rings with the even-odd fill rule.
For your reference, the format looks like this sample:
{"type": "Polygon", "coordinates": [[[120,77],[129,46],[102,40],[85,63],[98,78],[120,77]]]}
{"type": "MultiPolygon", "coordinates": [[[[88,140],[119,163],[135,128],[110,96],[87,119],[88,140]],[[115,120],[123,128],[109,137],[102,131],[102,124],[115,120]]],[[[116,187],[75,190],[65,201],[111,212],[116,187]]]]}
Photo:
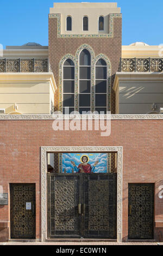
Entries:
{"type": "Polygon", "coordinates": [[[79,112],[91,111],[91,55],[84,49],[79,56],[79,112]]]}

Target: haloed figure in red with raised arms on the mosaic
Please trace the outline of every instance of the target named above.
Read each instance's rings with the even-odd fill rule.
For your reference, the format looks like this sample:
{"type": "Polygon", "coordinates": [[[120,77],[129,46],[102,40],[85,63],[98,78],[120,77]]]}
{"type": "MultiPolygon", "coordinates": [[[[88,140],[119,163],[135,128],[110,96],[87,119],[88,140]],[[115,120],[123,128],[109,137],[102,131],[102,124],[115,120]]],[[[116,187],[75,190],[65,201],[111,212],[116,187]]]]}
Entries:
{"type": "Polygon", "coordinates": [[[93,173],[93,171],[95,170],[96,164],[98,164],[99,161],[96,161],[93,164],[93,167],[91,167],[91,164],[88,163],[89,161],[89,157],[84,155],[81,157],[80,161],[82,163],[79,164],[79,166],[77,167],[76,164],[71,161],[71,163],[74,166],[74,169],[76,170],[77,173],[93,173]]]}

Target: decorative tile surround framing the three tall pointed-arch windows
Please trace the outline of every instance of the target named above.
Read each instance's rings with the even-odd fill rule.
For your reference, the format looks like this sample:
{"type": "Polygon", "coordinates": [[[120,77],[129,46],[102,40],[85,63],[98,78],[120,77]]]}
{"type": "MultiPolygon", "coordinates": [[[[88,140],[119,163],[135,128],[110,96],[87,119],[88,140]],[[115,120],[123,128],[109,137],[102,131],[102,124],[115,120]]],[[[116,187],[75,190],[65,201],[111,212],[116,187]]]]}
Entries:
{"type": "Polygon", "coordinates": [[[66,54],[59,63],[59,111],[62,112],[62,65],[64,64],[67,58],[73,60],[75,65],[75,89],[74,89],[74,98],[75,98],[75,111],[79,111],[79,54],[83,49],[87,49],[91,54],[91,111],[95,111],[95,65],[98,59],[103,58],[107,64],[108,71],[108,104],[107,111],[110,111],[111,108],[111,63],[110,60],[104,54],[98,54],[95,57],[95,51],[90,45],[83,44],[81,45],[74,57],[72,54],[66,54]]]}

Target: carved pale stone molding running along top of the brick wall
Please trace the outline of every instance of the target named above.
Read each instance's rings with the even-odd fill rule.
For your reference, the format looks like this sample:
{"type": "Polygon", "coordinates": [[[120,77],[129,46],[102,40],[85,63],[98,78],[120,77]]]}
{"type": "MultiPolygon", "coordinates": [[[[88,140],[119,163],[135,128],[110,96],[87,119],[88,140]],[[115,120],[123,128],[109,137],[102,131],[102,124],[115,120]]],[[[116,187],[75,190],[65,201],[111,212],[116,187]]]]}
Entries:
{"type": "MultiPolygon", "coordinates": [[[[65,115],[67,117],[67,115],[65,115]]],[[[82,115],[80,115],[82,118],[82,115]]],[[[84,118],[88,119],[89,115],[84,118]]],[[[163,114],[111,114],[111,120],[161,120],[163,119],[163,114]]],[[[0,120],[54,120],[59,118],[59,115],[49,114],[22,114],[22,115],[10,115],[10,114],[0,114],[0,120]]],[[[104,115],[106,119],[106,115],[104,115]]],[[[74,117],[70,117],[70,119],[74,119],[74,117]]]]}

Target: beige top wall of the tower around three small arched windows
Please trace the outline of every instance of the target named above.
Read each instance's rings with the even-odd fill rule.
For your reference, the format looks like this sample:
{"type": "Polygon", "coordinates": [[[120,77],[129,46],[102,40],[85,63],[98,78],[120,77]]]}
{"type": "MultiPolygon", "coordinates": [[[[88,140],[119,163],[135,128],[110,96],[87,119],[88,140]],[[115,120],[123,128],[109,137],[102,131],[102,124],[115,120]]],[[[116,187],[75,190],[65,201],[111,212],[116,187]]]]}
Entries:
{"type": "Polygon", "coordinates": [[[54,3],[50,14],[61,14],[61,34],[108,34],[109,14],[121,13],[117,3],[54,3]],[[66,31],[66,17],[72,17],[72,31],[66,31]],[[89,30],[83,31],[83,17],[89,18],[89,30]],[[98,31],[98,18],[104,16],[104,31],[98,31]]]}

